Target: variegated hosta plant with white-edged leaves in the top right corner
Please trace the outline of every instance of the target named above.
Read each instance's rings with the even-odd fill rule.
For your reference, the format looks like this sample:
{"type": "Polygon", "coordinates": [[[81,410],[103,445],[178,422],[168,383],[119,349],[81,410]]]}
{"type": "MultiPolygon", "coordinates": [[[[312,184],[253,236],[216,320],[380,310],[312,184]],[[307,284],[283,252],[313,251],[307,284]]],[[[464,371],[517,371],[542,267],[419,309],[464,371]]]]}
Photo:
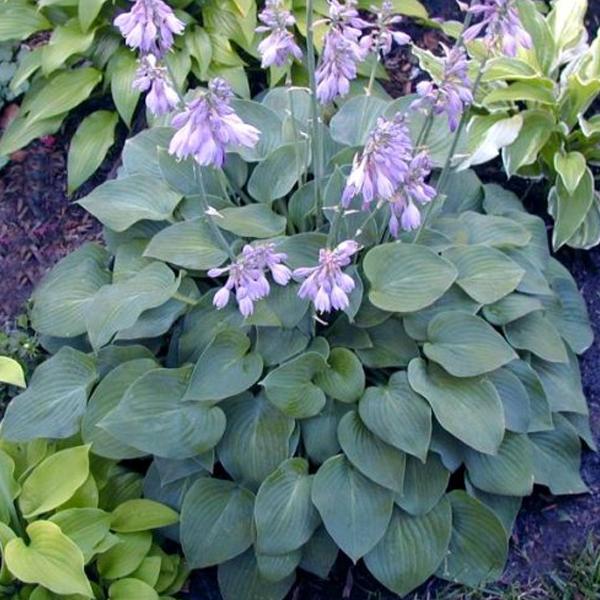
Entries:
{"type": "MultiPolygon", "coordinates": [[[[515,6],[530,47],[506,56],[479,40],[468,44],[472,68],[484,67],[462,165],[500,151],[508,177],[547,182],[554,248],[590,248],[600,243],[600,38],[586,31],[586,0],[555,0],[545,16],[532,0],[515,6]]],[[[432,73],[436,62],[421,53],[432,73]]]]}

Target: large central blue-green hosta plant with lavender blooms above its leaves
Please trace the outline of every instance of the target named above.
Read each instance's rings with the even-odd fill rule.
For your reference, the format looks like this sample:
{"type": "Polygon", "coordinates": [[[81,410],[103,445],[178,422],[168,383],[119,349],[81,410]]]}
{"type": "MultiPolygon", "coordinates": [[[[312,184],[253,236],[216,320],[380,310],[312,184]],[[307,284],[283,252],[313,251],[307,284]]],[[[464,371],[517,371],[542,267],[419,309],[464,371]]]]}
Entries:
{"type": "Polygon", "coordinates": [[[586,491],[585,305],[539,218],[448,170],[448,115],[362,95],[325,123],[314,90],[213,81],[127,142],[80,201],[106,247],[34,294],[52,356],[2,434],[151,460],[225,600],[340,551],[401,595],[479,585],[534,484],[586,491]]]}

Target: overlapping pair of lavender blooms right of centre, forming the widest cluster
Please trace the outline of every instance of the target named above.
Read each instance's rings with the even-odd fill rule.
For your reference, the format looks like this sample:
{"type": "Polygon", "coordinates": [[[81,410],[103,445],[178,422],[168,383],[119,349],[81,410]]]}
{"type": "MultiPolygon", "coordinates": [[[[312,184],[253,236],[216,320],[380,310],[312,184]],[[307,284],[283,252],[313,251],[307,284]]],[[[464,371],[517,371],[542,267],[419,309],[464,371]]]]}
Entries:
{"type": "Polygon", "coordinates": [[[421,224],[417,204],[426,204],[436,190],[426,183],[431,161],[425,151],[416,152],[403,115],[380,118],[362,153],[354,157],[352,171],[342,194],[342,206],[362,194],[363,209],[373,200],[385,201],[390,209],[389,230],[394,237],[399,227],[411,230],[421,224]]]}

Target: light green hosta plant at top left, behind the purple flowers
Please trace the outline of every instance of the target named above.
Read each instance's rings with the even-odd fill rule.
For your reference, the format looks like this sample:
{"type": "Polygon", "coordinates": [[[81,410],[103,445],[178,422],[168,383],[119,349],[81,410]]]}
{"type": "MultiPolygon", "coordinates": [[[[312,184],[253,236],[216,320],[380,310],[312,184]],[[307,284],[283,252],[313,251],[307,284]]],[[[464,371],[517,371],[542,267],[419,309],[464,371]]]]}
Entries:
{"type": "MultiPolygon", "coordinates": [[[[156,7],[162,3],[138,0],[138,13],[144,10],[145,4],[156,7]]],[[[257,19],[257,11],[265,2],[175,0],[170,4],[181,26],[174,28],[175,39],[169,44],[166,62],[179,87],[220,76],[237,94],[249,97],[250,76],[256,78],[260,74],[261,32],[256,29],[262,23],[257,19]]],[[[293,33],[304,45],[307,2],[295,0],[284,4],[294,15],[293,33]]],[[[361,1],[360,6],[370,9],[372,4],[361,1]]],[[[328,6],[324,0],[314,5],[318,19],[315,20],[318,33],[315,44],[320,50],[328,6]]],[[[96,171],[114,144],[117,124],[122,121],[132,127],[139,105],[140,90],[132,87],[140,67],[130,50],[135,44],[131,38],[127,43],[122,40],[115,26],[119,16],[131,6],[131,2],[124,0],[116,3],[104,0],[0,1],[0,43],[49,33],[48,41],[27,54],[17,72],[11,73],[10,93],[22,93],[27,83],[31,86],[22,100],[21,116],[0,140],[0,156],[10,155],[35,138],[56,133],[71,111],[92,99],[94,102],[89,104],[96,110],[81,121],[73,138],[68,165],[69,190],[77,189],[96,171]],[[98,97],[106,96],[111,97],[114,108],[107,103],[105,109],[97,110],[98,97]]],[[[390,6],[394,13],[427,17],[427,11],[418,0],[395,0],[390,6]]],[[[164,9],[151,10],[156,10],[157,24],[165,22],[164,9]]],[[[0,58],[0,81],[1,61],[0,58]]],[[[377,65],[375,57],[371,63],[377,65]]],[[[361,66],[359,70],[368,77],[371,65],[361,66]]],[[[271,65],[269,85],[282,82],[286,74],[300,82],[305,82],[307,77],[301,60],[294,65],[293,73],[271,65]]],[[[385,76],[383,68],[379,67],[377,75],[385,76]]]]}

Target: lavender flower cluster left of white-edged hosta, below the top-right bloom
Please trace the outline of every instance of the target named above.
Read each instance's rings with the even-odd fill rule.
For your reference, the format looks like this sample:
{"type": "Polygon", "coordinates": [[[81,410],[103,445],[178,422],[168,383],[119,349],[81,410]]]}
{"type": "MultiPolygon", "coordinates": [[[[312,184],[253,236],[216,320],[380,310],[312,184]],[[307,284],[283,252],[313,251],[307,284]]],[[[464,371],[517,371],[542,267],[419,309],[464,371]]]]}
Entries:
{"type": "Polygon", "coordinates": [[[439,84],[433,81],[419,83],[417,93],[421,97],[413,102],[412,108],[433,107],[436,115],[446,113],[450,131],[455,131],[465,106],[473,102],[473,92],[465,51],[460,47],[442,47],[446,54],[442,81],[439,84]]]}

